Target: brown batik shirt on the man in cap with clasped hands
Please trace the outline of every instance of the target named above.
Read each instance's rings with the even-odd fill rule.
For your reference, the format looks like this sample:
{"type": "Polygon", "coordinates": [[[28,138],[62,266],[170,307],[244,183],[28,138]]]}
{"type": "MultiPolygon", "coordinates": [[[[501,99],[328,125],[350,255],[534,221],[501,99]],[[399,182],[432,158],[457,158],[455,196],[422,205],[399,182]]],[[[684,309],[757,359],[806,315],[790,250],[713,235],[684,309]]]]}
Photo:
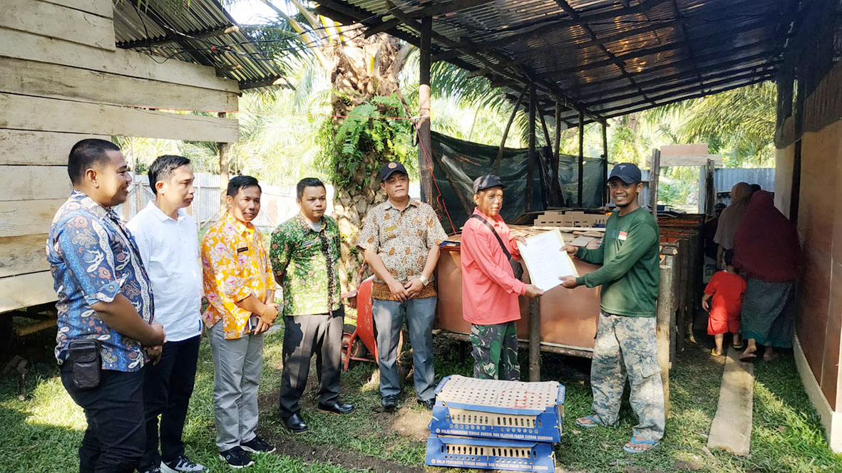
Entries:
{"type": "MultiPolygon", "coordinates": [[[[435,210],[418,200],[410,200],[404,210],[397,210],[386,200],[365,215],[357,246],[376,252],[397,282],[407,284],[418,278],[427,263],[430,248],[447,238],[435,210]]],[[[433,275],[430,275],[430,280],[433,275]]],[[[395,300],[386,283],[375,277],[372,296],[395,300]]],[[[433,284],[427,284],[416,299],[435,295],[433,284]]]]}

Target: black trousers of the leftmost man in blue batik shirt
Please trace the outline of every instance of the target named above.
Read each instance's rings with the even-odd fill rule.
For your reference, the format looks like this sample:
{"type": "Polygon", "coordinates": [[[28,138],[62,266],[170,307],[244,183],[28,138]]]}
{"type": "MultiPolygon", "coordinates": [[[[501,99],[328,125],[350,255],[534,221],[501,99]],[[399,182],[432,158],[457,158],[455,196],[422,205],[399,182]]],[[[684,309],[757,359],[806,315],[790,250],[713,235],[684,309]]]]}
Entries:
{"type": "Polygon", "coordinates": [[[99,386],[73,385],[69,364],[61,384],[85,411],[88,430],[79,447],[80,473],[131,473],[141,464],[146,445],[143,422],[143,370],[131,373],[103,369],[99,386]]]}

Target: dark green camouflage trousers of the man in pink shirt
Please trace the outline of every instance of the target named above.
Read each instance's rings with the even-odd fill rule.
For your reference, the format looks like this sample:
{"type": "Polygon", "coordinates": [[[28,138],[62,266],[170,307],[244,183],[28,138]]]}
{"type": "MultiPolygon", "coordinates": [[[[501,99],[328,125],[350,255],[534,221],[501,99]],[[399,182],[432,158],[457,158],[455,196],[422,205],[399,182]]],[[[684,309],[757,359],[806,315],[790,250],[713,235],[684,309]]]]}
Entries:
{"type": "Polygon", "coordinates": [[[474,378],[520,380],[518,337],[514,322],[471,325],[474,378]]]}

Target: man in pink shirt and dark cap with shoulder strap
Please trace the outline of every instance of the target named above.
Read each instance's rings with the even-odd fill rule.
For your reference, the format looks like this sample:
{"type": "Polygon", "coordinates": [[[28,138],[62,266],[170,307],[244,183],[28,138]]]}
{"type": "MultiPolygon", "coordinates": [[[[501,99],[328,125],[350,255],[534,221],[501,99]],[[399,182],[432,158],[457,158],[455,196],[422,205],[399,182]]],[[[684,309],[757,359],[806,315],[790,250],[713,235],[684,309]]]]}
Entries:
{"type": "MultiPolygon", "coordinates": [[[[512,258],[520,258],[516,240],[500,216],[504,184],[488,174],[473,183],[477,208],[462,228],[462,316],[471,322],[475,378],[520,380],[519,295],[543,294],[514,275],[512,258]]],[[[519,264],[519,263],[515,263],[519,264]]]]}

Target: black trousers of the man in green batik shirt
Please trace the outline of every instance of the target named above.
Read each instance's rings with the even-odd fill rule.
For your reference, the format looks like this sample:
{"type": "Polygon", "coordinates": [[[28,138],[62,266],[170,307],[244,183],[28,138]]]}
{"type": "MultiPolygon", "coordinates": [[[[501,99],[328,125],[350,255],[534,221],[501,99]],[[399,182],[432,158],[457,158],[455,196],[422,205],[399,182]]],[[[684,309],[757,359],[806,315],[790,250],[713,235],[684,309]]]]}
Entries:
{"type": "Polygon", "coordinates": [[[298,401],[307,384],[313,353],[316,353],[319,376],[318,401],[328,405],[338,401],[343,322],[342,316],[330,314],[284,317],[284,369],[280,375],[282,417],[301,411],[298,401]]]}

